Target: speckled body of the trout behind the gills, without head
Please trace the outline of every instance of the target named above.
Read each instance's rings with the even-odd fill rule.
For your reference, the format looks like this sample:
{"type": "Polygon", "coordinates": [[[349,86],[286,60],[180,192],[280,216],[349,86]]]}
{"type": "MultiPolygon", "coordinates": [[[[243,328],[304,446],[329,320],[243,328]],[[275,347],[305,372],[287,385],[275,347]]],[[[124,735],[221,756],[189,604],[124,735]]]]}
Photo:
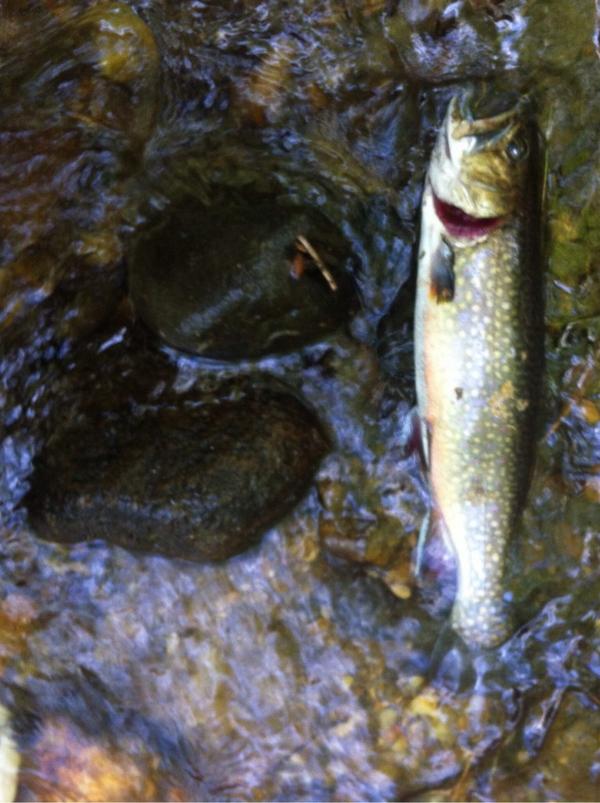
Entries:
{"type": "MultiPolygon", "coordinates": [[[[424,220],[428,203],[430,196],[424,220]]],[[[493,646],[511,629],[507,546],[529,483],[539,368],[534,282],[522,232],[507,225],[455,248],[454,299],[438,304],[427,263],[440,224],[429,221],[417,290],[419,414],[433,503],[457,561],[453,624],[467,641],[493,646]]]]}

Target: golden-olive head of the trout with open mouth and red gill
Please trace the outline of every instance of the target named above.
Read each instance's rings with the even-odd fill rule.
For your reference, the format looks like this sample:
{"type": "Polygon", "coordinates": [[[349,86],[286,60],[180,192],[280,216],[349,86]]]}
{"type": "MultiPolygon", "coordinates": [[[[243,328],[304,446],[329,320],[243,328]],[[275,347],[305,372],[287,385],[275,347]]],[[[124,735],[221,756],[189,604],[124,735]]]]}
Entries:
{"type": "Polygon", "coordinates": [[[485,235],[518,213],[532,138],[524,97],[466,92],[452,99],[429,168],[436,212],[451,235],[485,235]]]}

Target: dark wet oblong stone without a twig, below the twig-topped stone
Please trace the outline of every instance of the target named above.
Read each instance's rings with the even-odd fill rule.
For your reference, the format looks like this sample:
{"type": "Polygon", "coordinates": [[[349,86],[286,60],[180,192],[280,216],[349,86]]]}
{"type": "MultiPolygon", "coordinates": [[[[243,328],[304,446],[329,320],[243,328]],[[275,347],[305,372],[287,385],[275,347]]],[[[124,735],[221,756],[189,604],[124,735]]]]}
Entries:
{"type": "Polygon", "coordinates": [[[315,416],[270,388],[214,403],[105,412],[53,436],[25,500],[48,540],[104,539],[221,560],[253,545],[303,497],[328,449],[315,416]]]}

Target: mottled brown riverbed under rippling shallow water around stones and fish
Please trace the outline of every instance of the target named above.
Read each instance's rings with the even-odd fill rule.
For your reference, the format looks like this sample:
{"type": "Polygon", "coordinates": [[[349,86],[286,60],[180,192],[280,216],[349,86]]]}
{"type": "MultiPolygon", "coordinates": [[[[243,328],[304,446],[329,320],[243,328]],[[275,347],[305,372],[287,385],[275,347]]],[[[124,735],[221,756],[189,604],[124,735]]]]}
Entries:
{"type": "Polygon", "coordinates": [[[2,4],[0,696],[19,799],[598,799],[599,54],[592,0],[2,4]],[[483,82],[530,92],[547,140],[547,366],[521,627],[477,653],[446,626],[446,575],[411,579],[427,497],[402,425],[424,171],[449,98],[483,82]],[[359,312],[258,363],[162,346],[127,301],[136,238],[182,203],[226,215],[231,193],[335,226],[359,312]],[[227,381],[287,388],[331,445],[258,546],[200,564],[38,537],[34,466],[65,432],[227,381]]]}

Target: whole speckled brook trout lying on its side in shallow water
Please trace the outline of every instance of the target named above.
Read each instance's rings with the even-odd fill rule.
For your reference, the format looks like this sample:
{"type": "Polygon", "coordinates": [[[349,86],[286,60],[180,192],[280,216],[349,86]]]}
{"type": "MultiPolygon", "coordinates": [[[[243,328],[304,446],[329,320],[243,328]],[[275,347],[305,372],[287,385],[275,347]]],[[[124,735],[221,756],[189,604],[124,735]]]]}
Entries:
{"type": "Polygon", "coordinates": [[[431,518],[455,554],[452,622],[511,632],[507,545],[533,464],[543,359],[538,138],[515,97],[455,97],[423,196],[415,360],[431,518]]]}

